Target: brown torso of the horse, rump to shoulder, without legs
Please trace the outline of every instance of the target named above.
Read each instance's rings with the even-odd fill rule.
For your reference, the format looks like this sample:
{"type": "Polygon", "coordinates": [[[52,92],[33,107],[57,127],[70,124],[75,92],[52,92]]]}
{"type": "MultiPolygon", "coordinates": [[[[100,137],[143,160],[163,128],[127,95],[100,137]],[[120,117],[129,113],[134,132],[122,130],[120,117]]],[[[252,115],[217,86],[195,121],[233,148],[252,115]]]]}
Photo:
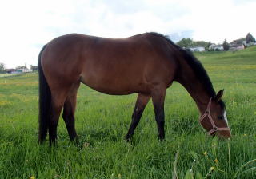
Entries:
{"type": "Polygon", "coordinates": [[[176,64],[168,43],[150,34],[116,39],[68,34],[48,43],[42,68],[52,86],[82,81],[103,93],[126,94],[149,92],[160,82],[168,86],[176,64]]]}

